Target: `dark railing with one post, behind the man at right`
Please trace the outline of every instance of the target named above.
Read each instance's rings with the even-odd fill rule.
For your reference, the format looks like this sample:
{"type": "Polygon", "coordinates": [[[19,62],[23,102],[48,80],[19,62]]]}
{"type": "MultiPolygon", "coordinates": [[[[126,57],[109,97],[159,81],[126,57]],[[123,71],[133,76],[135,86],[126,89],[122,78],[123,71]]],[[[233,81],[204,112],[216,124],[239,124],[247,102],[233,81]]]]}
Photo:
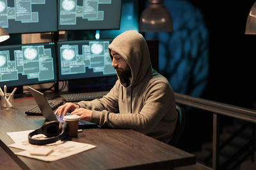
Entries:
{"type": "Polygon", "coordinates": [[[220,115],[256,123],[256,111],[185,94],[174,93],[176,103],[213,113],[212,169],[220,169],[220,115]]]}

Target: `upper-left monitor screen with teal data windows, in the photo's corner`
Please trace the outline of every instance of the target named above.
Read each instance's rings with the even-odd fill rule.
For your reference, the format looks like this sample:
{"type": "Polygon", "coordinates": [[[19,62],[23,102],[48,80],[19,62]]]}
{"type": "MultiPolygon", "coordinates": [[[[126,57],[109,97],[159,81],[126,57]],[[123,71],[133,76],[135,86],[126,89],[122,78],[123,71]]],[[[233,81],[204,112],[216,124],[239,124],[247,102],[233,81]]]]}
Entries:
{"type": "Polygon", "coordinates": [[[0,26],[9,34],[58,31],[57,0],[0,0],[0,26]]]}

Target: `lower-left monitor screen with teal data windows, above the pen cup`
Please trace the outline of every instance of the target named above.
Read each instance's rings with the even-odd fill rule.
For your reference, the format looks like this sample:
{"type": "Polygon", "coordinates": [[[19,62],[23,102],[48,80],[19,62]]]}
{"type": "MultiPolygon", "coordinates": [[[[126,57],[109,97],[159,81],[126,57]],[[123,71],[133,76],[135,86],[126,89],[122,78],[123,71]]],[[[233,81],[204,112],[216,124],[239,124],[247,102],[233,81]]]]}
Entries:
{"type": "Polygon", "coordinates": [[[57,81],[54,43],[0,46],[0,87],[57,81]]]}

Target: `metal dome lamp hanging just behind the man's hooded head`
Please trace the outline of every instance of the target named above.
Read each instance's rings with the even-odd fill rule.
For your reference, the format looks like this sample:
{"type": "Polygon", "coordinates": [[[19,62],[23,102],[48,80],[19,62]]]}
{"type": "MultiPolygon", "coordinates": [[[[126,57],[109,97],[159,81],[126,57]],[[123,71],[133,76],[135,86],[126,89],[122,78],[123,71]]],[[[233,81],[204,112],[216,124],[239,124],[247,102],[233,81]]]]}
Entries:
{"type": "Polygon", "coordinates": [[[172,32],[172,17],[163,0],[148,0],[148,3],[140,17],[140,32],[172,32]]]}

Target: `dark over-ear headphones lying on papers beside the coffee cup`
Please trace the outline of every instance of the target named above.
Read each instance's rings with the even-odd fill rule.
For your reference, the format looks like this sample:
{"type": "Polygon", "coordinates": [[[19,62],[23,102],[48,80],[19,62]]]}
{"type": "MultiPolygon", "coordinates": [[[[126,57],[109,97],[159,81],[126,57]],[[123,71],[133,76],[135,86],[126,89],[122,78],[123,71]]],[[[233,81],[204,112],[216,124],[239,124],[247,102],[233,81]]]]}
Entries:
{"type": "Polygon", "coordinates": [[[66,122],[58,122],[56,120],[45,122],[42,127],[28,134],[28,142],[33,145],[45,145],[54,143],[58,140],[68,138],[68,125],[66,122]],[[35,139],[32,136],[36,134],[44,134],[47,139],[35,139]]]}

